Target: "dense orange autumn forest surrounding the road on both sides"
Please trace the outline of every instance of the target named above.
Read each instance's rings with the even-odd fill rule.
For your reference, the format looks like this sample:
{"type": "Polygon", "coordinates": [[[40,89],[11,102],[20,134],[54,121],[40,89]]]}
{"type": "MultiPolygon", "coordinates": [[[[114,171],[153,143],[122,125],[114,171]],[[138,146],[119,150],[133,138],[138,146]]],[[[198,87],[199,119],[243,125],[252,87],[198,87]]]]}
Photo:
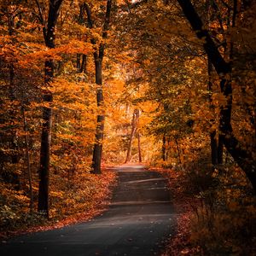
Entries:
{"type": "Polygon", "coordinates": [[[143,162],[190,202],[188,255],[255,253],[255,1],[0,3],[3,234],[95,214],[143,162]]]}

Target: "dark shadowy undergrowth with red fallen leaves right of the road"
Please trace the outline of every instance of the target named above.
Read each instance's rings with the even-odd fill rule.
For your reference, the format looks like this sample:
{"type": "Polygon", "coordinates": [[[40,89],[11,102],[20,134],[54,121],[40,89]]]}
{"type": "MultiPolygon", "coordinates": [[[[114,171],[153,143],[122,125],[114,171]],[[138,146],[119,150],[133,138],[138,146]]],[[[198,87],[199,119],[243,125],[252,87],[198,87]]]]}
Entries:
{"type": "Polygon", "coordinates": [[[169,178],[179,213],[163,255],[256,255],[256,198],[247,177],[232,160],[213,168],[207,152],[198,155],[182,166],[154,165],[169,178]]]}

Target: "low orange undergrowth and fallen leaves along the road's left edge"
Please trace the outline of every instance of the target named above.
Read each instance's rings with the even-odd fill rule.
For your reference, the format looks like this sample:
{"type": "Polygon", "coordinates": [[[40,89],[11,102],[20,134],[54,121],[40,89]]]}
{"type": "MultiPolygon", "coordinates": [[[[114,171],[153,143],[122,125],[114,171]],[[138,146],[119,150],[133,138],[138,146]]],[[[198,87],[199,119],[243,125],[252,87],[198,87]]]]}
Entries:
{"type": "Polygon", "coordinates": [[[49,219],[37,212],[37,193],[31,211],[26,188],[16,191],[11,185],[0,183],[0,237],[26,232],[34,227],[44,229],[42,226],[49,226],[50,229],[91,218],[106,207],[114,181],[114,172],[108,170],[103,170],[102,175],[76,173],[72,179],[63,177],[61,180],[52,174],[49,219]]]}

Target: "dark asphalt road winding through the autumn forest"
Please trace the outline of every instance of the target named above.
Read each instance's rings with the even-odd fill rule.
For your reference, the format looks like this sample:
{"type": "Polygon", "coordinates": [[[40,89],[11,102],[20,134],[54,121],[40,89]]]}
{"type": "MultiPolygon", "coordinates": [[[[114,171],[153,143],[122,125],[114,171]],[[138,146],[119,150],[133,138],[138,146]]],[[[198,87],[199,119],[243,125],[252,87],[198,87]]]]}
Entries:
{"type": "Polygon", "coordinates": [[[15,237],[0,246],[0,255],[159,255],[176,218],[166,179],[143,166],[113,172],[119,173],[119,185],[107,212],[59,230],[15,237]]]}

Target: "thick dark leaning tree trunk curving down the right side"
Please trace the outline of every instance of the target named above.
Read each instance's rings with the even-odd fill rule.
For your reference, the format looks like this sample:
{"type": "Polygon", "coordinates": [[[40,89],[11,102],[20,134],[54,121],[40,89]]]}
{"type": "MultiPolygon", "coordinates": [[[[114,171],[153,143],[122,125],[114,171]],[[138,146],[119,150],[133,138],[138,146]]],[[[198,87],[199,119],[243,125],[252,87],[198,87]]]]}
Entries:
{"type": "Polygon", "coordinates": [[[206,50],[209,60],[212,62],[212,65],[215,67],[215,70],[221,79],[220,88],[227,99],[227,105],[222,108],[220,112],[219,125],[224,146],[227,148],[234,160],[236,160],[238,166],[240,166],[241,169],[246,173],[247,178],[253,185],[253,189],[256,191],[256,161],[253,158],[253,152],[241,147],[241,143],[239,143],[234,136],[231,126],[232,87],[230,79],[224,78],[225,75],[227,78],[230,77],[230,63],[224,61],[224,58],[218,51],[218,47],[214,44],[212,38],[210,37],[209,32],[204,29],[201,19],[196,13],[190,0],[177,0],[177,2],[183,9],[183,14],[189,20],[189,23],[195,31],[197,38],[204,40],[204,49],[206,50]]]}

